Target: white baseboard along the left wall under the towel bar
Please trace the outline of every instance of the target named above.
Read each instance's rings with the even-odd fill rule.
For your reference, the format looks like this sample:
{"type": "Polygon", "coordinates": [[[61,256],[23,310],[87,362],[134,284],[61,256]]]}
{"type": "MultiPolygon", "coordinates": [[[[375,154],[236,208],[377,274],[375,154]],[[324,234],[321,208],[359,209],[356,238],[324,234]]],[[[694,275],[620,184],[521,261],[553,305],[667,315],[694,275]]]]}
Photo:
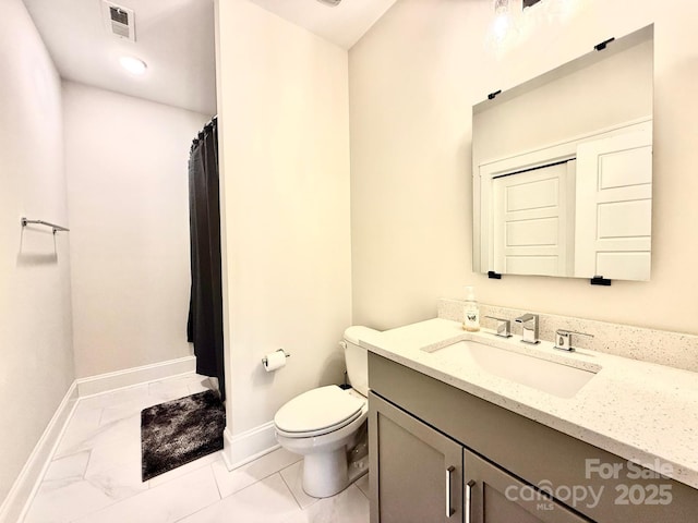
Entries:
{"type": "Polygon", "coordinates": [[[77,400],[77,386],[73,381],[2,502],[0,523],[16,523],[24,519],[28,501],[36,494],[39,481],[44,477],[77,400]]]}

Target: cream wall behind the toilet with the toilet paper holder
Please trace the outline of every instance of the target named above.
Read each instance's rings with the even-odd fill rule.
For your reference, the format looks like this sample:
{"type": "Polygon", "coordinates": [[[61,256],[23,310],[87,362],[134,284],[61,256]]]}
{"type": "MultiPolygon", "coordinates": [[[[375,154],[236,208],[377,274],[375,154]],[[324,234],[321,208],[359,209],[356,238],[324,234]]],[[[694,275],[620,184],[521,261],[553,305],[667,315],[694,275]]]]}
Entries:
{"type": "Polygon", "coordinates": [[[338,382],[351,321],[347,52],[218,2],[227,415],[238,435],[338,382]],[[285,368],[261,360],[284,348],[285,368]]]}

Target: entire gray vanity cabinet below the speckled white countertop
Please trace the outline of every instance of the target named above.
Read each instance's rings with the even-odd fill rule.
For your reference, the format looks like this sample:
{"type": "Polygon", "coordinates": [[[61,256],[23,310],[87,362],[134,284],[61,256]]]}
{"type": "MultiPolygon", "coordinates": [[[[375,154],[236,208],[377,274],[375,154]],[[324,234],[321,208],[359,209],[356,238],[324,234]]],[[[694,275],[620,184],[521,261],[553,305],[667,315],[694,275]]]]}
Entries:
{"type": "Polygon", "coordinates": [[[371,523],[698,521],[698,490],[374,353],[369,386],[371,523]]]}

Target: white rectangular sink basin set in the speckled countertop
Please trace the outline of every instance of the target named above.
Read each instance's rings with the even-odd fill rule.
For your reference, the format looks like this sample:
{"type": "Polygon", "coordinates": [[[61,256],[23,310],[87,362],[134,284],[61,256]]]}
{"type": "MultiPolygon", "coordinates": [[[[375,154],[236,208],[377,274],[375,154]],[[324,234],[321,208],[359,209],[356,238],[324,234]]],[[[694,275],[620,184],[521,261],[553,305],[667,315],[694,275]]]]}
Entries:
{"type": "Polygon", "coordinates": [[[448,365],[484,370],[559,398],[574,397],[598,372],[474,341],[459,341],[431,353],[448,365]]]}

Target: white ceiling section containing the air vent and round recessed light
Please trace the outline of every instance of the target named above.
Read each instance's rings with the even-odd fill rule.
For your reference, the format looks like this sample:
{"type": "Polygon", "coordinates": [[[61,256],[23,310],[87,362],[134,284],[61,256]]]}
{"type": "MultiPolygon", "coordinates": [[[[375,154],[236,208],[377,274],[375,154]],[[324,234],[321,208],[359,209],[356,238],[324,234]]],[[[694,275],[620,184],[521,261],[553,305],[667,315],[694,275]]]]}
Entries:
{"type": "Polygon", "coordinates": [[[213,0],[116,0],[135,11],[135,42],[107,33],[101,0],[24,3],[63,78],[216,113],[213,0]],[[144,60],[147,72],[125,73],[122,54],[144,60]]]}

